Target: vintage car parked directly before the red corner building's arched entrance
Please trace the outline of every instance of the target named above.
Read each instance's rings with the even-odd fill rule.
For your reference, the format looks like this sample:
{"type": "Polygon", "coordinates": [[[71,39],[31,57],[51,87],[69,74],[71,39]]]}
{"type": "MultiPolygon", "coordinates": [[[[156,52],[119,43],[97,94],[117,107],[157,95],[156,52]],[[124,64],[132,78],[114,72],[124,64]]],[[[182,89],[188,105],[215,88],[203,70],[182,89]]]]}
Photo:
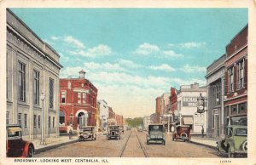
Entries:
{"type": "Polygon", "coordinates": [[[96,140],[96,129],[95,126],[84,126],[79,132],[79,141],[90,139],[96,140]]]}

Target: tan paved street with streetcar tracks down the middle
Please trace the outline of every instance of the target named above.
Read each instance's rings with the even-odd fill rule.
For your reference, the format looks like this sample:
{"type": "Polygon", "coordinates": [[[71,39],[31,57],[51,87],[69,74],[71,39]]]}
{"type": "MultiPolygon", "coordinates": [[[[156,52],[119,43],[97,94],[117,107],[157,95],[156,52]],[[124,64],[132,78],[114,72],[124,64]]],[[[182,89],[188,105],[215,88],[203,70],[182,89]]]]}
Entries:
{"type": "MultiPolygon", "coordinates": [[[[73,137],[74,138],[74,137],[73,137]]],[[[149,157],[218,157],[216,151],[204,146],[183,141],[172,141],[166,135],[166,145],[146,144],[146,133],[137,130],[125,131],[121,139],[109,139],[97,136],[96,141],[82,141],[71,145],[39,153],[37,157],[145,157],[143,148],[149,157]],[[137,134],[137,135],[136,135],[137,134]],[[129,137],[130,136],[130,137],[129,137]],[[139,140],[142,145],[140,145],[139,140]],[[129,138],[129,139],[128,139],[129,138]],[[128,141],[127,141],[128,139],[128,141]],[[126,145],[125,145],[126,143],[126,145]]]]}

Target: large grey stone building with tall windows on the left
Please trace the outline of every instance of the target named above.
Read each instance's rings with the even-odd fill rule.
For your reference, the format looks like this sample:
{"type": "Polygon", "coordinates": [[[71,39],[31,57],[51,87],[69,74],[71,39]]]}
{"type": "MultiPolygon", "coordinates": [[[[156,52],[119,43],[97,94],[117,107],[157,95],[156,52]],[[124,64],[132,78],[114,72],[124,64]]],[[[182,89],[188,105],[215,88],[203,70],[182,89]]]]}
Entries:
{"type": "Polygon", "coordinates": [[[40,138],[42,127],[46,137],[58,135],[60,55],[6,12],[6,124],[20,124],[24,139],[40,138]]]}

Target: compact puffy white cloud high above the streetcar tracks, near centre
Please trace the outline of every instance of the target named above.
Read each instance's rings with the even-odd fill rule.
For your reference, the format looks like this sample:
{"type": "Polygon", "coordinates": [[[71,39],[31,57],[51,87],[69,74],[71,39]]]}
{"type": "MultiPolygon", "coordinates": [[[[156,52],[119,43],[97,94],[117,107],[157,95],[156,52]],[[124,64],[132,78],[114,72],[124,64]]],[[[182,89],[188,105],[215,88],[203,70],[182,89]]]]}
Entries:
{"type": "Polygon", "coordinates": [[[148,54],[154,54],[159,51],[160,51],[160,48],[157,45],[143,43],[138,46],[138,48],[135,50],[134,53],[141,54],[141,55],[148,55],[148,54]]]}

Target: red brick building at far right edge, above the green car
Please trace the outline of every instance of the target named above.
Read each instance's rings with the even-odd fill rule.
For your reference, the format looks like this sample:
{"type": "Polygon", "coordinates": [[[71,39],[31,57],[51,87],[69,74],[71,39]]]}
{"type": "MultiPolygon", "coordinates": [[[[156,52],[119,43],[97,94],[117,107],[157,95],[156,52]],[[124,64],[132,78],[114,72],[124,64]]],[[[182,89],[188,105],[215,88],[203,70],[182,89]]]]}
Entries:
{"type": "Polygon", "coordinates": [[[247,116],[247,36],[245,26],[226,46],[225,117],[247,116]]]}

